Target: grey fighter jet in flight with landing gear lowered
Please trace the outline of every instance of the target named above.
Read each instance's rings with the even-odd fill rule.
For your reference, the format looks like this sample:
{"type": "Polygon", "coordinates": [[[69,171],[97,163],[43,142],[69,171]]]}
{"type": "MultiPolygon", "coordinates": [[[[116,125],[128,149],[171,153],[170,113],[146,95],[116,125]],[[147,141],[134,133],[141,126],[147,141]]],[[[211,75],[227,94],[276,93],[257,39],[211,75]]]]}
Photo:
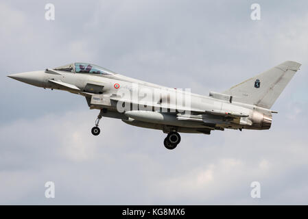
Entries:
{"type": "Polygon", "coordinates": [[[171,150],[180,143],[179,133],[209,135],[224,129],[270,129],[272,114],[276,113],[270,108],[299,68],[299,63],[286,61],[224,92],[209,92],[209,96],[159,86],[81,62],[8,77],[85,96],[88,107],[99,110],[91,130],[94,136],[100,133],[102,116],[117,118],[128,125],[167,133],[164,145],[171,150]]]}

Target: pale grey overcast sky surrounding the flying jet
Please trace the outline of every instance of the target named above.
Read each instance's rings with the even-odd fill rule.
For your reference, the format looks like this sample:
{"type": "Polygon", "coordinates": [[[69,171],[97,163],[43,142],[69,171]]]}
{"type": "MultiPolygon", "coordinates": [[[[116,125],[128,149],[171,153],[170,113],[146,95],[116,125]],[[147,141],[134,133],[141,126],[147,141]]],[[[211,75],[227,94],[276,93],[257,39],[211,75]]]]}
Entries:
{"type": "Polygon", "coordinates": [[[1,1],[0,204],[308,204],[307,1],[1,1]],[[45,4],[55,5],[55,21],[45,4]],[[261,5],[252,21],[250,5],[261,5]],[[303,64],[267,131],[182,134],[103,118],[69,92],[6,75],[90,62],[208,95],[303,64]],[[54,181],[56,198],[45,198],[54,181]],[[250,183],[261,183],[251,198],[250,183]]]}

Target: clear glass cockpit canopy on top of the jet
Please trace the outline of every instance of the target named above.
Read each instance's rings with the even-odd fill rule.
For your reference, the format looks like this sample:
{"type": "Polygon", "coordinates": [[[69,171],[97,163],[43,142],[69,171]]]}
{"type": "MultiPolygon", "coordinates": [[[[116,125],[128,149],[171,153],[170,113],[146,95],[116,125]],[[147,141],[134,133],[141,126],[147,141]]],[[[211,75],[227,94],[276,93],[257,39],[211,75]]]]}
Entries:
{"type": "Polygon", "coordinates": [[[96,74],[96,75],[115,75],[111,70],[96,66],[94,64],[75,62],[72,64],[67,64],[54,68],[54,70],[68,71],[71,73],[86,73],[86,74],[96,74]]]}

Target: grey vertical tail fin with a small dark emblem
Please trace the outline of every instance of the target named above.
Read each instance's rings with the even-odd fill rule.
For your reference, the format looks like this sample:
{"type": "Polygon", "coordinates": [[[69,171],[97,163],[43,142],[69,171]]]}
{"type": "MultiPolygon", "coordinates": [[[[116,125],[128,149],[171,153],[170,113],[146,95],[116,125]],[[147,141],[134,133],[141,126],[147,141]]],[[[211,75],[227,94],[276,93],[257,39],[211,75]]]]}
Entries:
{"type": "Polygon", "coordinates": [[[283,62],[223,93],[233,96],[233,101],[270,109],[300,66],[297,62],[283,62]]]}

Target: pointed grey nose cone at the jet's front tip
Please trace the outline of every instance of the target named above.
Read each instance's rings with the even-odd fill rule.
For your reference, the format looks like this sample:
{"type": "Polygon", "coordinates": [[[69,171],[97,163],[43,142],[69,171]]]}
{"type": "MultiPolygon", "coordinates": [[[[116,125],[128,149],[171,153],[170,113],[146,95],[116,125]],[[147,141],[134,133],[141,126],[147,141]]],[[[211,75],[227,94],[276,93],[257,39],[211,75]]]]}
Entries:
{"type": "Polygon", "coordinates": [[[38,87],[44,87],[46,82],[46,74],[43,70],[31,71],[27,73],[17,73],[8,75],[8,77],[38,87]]]}

